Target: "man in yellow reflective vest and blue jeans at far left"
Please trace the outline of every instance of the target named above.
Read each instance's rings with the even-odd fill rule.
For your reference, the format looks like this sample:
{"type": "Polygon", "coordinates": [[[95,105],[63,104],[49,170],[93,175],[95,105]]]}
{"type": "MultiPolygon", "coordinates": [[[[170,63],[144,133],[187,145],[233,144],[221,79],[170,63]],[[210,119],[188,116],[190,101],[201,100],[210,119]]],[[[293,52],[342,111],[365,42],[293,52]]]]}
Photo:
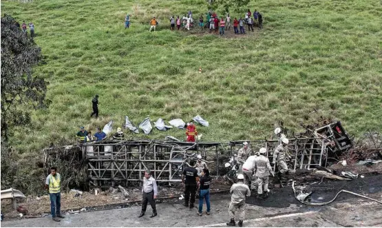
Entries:
{"type": "Polygon", "coordinates": [[[50,168],[50,174],[45,180],[45,189],[49,189],[50,213],[54,221],[59,222],[61,215],[61,176],[56,167],[50,168]],[[59,217],[59,218],[57,218],[59,217]]]}

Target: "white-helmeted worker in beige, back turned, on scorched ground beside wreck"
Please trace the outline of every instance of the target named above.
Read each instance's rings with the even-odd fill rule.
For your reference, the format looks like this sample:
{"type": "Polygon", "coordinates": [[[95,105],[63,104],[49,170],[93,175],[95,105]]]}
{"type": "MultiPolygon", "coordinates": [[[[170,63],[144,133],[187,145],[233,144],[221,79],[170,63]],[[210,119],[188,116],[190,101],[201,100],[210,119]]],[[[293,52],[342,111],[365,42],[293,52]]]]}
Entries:
{"type": "Polygon", "coordinates": [[[260,156],[255,158],[255,175],[257,177],[257,198],[267,198],[268,197],[268,180],[269,175],[272,174],[272,167],[270,167],[269,159],[264,156],[266,154],[266,149],[264,147],[259,150],[260,156]]]}

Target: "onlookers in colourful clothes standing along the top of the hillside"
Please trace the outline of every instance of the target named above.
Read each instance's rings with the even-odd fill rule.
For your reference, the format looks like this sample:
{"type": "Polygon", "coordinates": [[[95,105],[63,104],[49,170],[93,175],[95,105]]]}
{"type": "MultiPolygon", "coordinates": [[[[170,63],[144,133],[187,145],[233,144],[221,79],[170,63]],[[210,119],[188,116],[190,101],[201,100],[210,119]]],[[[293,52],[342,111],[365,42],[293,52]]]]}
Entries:
{"type": "MultiPolygon", "coordinates": [[[[191,28],[196,28],[195,25],[195,19],[192,17],[192,12],[189,10],[188,14],[184,14],[183,17],[180,16],[172,16],[170,17],[170,30],[190,30],[191,28]]],[[[150,29],[156,30],[156,25],[158,25],[158,20],[156,17],[153,17],[150,20],[150,29]]],[[[214,32],[217,34],[219,31],[219,34],[222,36],[224,35],[224,31],[231,30],[231,27],[233,27],[233,30],[235,34],[246,34],[246,26],[248,26],[248,31],[254,32],[255,27],[259,28],[261,30],[263,28],[263,17],[260,12],[257,12],[257,10],[254,10],[253,13],[250,9],[246,12],[244,18],[239,17],[231,17],[230,14],[226,14],[225,16],[218,17],[216,12],[208,12],[205,16],[205,19],[203,17],[203,14],[200,14],[199,17],[199,23],[198,27],[201,31],[209,30],[209,32],[214,32]]],[[[130,27],[130,17],[129,14],[125,17],[125,29],[130,27]]]]}

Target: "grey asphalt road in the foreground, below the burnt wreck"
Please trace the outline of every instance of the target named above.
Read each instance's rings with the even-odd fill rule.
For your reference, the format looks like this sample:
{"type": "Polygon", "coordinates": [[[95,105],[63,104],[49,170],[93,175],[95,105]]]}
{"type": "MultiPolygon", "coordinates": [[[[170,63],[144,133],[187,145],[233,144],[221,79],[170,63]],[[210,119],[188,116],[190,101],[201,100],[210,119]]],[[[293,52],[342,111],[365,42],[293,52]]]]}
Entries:
{"type": "MultiPolygon", "coordinates": [[[[382,178],[371,176],[364,179],[321,183],[317,185],[313,199],[328,201],[339,188],[367,194],[382,200],[382,178]],[[316,192],[317,191],[317,192],[316,192]]],[[[314,189],[315,187],[311,187],[314,189]]],[[[197,216],[197,209],[188,209],[182,202],[167,202],[157,205],[158,216],[146,215],[137,218],[140,207],[126,207],[105,211],[93,211],[67,215],[61,222],[51,217],[3,221],[1,227],[226,227],[229,221],[227,194],[211,196],[211,215],[197,216]]],[[[382,205],[365,198],[343,194],[334,203],[326,206],[301,205],[293,198],[290,187],[273,189],[272,195],[259,201],[251,196],[247,200],[244,227],[381,227],[382,205]]],[[[198,200],[196,200],[198,203],[198,200]]],[[[205,211],[205,205],[204,205],[205,211]]]]}

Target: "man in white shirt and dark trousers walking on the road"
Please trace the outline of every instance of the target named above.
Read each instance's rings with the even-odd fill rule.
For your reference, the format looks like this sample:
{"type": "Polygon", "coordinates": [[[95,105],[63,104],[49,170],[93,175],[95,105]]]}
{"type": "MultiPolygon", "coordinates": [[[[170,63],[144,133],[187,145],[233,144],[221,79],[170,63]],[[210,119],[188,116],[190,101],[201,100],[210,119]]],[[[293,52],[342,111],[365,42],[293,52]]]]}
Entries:
{"type": "Polygon", "coordinates": [[[157,216],[156,213],[156,204],[155,199],[158,195],[158,187],[156,186],[155,179],[151,176],[151,171],[145,171],[145,177],[143,178],[142,184],[142,211],[138,218],[145,215],[147,203],[150,203],[151,208],[153,209],[153,214],[150,218],[157,216]]]}

